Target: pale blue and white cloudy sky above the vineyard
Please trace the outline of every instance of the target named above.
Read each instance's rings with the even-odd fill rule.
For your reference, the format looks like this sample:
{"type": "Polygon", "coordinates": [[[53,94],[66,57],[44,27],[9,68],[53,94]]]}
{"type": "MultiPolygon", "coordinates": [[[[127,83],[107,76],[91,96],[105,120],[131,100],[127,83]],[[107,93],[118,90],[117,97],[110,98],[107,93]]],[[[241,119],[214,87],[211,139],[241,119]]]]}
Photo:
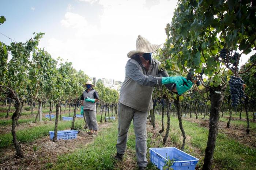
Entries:
{"type": "MultiPolygon", "coordinates": [[[[89,77],[124,81],[127,53],[138,35],[162,44],[177,0],[0,0],[6,22],[0,32],[26,42],[44,32],[39,43],[89,77]]],[[[0,41],[11,40],[0,34],[0,41]]],[[[248,60],[242,56],[240,64],[248,60]]]]}

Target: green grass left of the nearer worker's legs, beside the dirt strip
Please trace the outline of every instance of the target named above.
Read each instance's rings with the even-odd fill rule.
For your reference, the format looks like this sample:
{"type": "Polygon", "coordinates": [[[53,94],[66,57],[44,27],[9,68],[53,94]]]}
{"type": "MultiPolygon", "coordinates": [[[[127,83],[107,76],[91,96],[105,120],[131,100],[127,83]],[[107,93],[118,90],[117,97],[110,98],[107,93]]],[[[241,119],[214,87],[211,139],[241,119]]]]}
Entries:
{"type": "Polygon", "coordinates": [[[53,169],[113,169],[116,140],[117,121],[113,121],[108,128],[99,132],[99,135],[91,144],[72,153],[59,156],[53,169]]]}

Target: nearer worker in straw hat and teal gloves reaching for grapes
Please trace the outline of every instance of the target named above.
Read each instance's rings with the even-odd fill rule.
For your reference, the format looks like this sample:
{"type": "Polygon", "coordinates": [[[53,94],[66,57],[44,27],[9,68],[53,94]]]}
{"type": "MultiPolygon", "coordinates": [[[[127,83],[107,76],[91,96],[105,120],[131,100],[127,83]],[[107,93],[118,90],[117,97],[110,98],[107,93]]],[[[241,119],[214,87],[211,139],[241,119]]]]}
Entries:
{"type": "Polygon", "coordinates": [[[192,87],[192,82],[182,76],[169,77],[160,69],[160,62],[151,58],[161,45],[154,45],[142,36],[136,40],[136,50],[130,51],[125,66],[125,80],[120,89],[118,105],[118,139],[116,160],[123,159],[128,139],[128,130],[133,120],[136,136],[136,157],[140,170],[147,166],[147,113],[153,109],[154,87],[162,84],[179,95],[192,87]]]}

